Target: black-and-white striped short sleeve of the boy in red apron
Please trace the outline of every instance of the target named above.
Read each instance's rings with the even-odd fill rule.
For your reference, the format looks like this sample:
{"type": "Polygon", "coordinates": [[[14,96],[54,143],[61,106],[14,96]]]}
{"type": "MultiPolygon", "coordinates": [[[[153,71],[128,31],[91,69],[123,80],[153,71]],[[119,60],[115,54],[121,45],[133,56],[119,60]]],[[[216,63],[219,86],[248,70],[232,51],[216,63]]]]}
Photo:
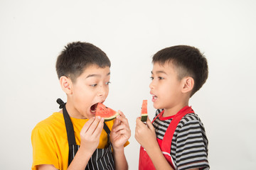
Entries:
{"type": "MultiPolygon", "coordinates": [[[[176,165],[182,169],[209,169],[208,140],[203,124],[196,116],[188,115],[179,123],[176,138],[176,165]]],[[[178,127],[177,127],[178,128],[178,127]]]]}

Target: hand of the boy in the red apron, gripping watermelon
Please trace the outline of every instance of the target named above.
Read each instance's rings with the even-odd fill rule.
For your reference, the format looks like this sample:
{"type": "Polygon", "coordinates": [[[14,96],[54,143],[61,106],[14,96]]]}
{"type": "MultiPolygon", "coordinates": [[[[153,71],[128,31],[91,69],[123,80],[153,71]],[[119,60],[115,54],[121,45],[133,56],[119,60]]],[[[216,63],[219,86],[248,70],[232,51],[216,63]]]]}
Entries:
{"type": "Polygon", "coordinates": [[[144,149],[158,145],[156,141],[156,132],[149,117],[146,120],[146,124],[142,122],[140,117],[136,119],[135,139],[142,145],[142,147],[144,147],[144,149]]]}

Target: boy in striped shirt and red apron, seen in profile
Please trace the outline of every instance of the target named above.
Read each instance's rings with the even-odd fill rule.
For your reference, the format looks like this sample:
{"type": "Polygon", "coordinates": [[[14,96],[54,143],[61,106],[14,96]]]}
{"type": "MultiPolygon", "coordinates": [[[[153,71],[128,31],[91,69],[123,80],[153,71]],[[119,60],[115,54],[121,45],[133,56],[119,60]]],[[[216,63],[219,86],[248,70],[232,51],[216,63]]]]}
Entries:
{"type": "Polygon", "coordinates": [[[152,123],[137,118],[139,169],[210,169],[203,123],[188,106],[208,78],[206,57],[195,47],[176,45],[156,52],[152,63],[149,88],[157,111],[152,123]]]}

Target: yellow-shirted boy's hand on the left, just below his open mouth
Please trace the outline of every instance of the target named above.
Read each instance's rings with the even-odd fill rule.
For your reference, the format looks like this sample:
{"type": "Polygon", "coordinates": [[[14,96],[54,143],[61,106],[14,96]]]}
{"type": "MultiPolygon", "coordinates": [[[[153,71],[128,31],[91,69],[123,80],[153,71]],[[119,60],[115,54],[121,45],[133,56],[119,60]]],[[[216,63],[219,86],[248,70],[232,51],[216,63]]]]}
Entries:
{"type": "Polygon", "coordinates": [[[104,118],[97,116],[90,118],[80,131],[81,144],[80,149],[93,154],[100,142],[100,134],[103,129],[104,118]]]}

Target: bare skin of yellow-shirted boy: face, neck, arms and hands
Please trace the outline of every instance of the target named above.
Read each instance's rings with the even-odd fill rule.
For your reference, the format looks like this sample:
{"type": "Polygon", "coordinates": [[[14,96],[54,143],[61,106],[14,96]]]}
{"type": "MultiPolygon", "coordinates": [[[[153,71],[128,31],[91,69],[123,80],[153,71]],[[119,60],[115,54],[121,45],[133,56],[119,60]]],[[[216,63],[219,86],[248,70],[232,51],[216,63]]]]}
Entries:
{"type": "MultiPolygon", "coordinates": [[[[71,81],[68,77],[60,77],[60,86],[68,96],[66,108],[72,118],[87,118],[87,123],[80,131],[80,149],[68,170],[85,169],[93,152],[99,145],[100,134],[103,129],[104,119],[91,111],[95,103],[102,103],[107,98],[110,84],[110,67],[100,68],[97,65],[87,67],[76,79],[71,81]]],[[[124,156],[124,144],[131,136],[131,130],[124,113],[119,111],[110,133],[110,141],[114,150],[114,162],[116,169],[128,169],[127,160],[124,156]]],[[[38,169],[56,169],[52,164],[42,164],[38,169]]]]}

